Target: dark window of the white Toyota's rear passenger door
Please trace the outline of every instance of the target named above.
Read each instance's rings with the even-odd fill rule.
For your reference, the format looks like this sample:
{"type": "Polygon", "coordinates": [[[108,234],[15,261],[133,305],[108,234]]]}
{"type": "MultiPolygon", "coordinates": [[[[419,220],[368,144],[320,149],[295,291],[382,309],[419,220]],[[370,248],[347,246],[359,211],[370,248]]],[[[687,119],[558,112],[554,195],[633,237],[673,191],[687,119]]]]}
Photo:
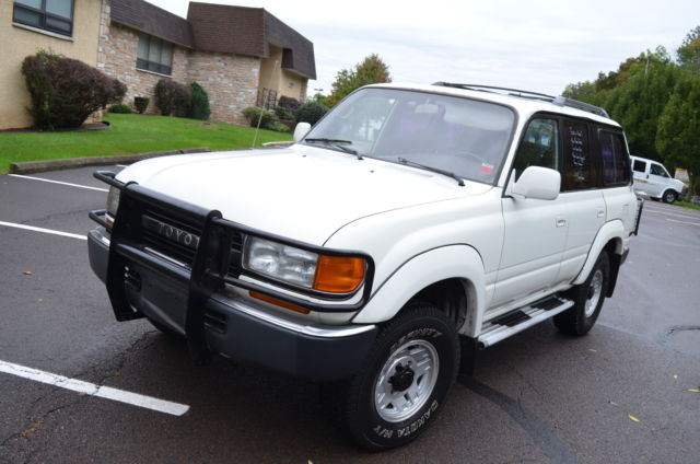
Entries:
{"type": "Polygon", "coordinates": [[[576,120],[564,121],[564,159],[562,190],[595,187],[596,178],[588,141],[588,125],[576,120]]]}

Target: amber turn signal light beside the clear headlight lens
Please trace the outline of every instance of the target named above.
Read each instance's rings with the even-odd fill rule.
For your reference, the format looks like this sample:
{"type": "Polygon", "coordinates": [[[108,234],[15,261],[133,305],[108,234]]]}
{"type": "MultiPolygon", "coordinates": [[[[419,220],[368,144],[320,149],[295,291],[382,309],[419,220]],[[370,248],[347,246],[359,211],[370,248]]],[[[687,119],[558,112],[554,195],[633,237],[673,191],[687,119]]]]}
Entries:
{"type": "Polygon", "coordinates": [[[349,293],[364,280],[364,259],[347,256],[318,256],[314,290],[349,293]]]}

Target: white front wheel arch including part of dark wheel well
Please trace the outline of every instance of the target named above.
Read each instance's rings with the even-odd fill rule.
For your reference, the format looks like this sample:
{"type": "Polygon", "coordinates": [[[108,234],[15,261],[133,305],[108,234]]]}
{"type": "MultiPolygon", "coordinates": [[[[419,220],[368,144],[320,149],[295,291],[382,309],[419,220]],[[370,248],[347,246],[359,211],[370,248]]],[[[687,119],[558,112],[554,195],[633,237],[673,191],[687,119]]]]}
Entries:
{"type": "Polygon", "coordinates": [[[415,256],[396,269],[377,290],[354,323],[382,323],[408,303],[428,302],[445,312],[459,333],[480,326],[486,298],[481,256],[468,245],[448,245],[415,256]]]}

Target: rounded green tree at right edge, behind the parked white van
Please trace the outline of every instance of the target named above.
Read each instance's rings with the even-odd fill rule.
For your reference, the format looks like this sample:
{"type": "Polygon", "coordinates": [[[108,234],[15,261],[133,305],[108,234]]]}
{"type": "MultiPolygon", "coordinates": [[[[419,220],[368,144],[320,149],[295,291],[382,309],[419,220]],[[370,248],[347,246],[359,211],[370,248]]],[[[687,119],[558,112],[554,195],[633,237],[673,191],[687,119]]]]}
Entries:
{"type": "Polygon", "coordinates": [[[658,118],[656,148],[670,164],[688,170],[692,193],[700,193],[700,77],[684,73],[658,118]]]}

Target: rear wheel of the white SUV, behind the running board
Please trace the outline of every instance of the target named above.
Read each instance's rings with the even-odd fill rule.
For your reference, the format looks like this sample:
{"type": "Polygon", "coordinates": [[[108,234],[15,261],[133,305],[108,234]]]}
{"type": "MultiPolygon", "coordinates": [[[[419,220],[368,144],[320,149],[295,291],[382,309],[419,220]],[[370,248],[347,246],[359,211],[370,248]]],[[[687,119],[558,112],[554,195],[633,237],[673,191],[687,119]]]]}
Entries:
{"type": "Polygon", "coordinates": [[[570,335],[585,335],[593,328],[603,309],[610,278],[610,260],[600,253],[585,282],[570,290],[574,305],[555,316],[559,330],[570,335]]]}

